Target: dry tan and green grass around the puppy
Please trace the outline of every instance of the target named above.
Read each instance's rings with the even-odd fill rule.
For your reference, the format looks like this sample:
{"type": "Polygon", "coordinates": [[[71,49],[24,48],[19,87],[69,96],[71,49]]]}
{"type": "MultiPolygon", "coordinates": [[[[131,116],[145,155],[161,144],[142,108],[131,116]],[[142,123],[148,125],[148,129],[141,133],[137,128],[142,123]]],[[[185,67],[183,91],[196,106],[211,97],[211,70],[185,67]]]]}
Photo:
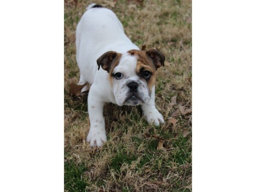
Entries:
{"type": "Polygon", "coordinates": [[[65,0],[65,191],[191,191],[192,116],[178,113],[173,125],[171,114],[179,105],[192,107],[192,2],[120,0],[114,7],[108,2],[65,0]],[[90,148],[85,142],[90,128],[86,97],[68,96],[68,85],[79,81],[76,25],[92,2],[111,8],[123,23],[125,33],[139,47],[157,47],[166,55],[165,67],[157,70],[156,82],[156,105],[166,122],[159,127],[148,125],[140,107],[107,104],[104,116],[108,141],[101,148],[90,148]],[[173,96],[177,96],[177,104],[171,106],[173,96]],[[184,130],[188,134],[184,135],[184,130]],[[157,150],[160,139],[164,140],[164,149],[157,150]]]}

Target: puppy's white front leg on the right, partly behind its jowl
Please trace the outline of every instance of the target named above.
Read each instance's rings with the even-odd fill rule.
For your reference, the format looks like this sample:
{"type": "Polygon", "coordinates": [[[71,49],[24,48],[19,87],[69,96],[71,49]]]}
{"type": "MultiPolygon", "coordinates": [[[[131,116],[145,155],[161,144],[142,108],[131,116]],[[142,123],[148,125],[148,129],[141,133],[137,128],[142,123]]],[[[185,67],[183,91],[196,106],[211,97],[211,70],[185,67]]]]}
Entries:
{"type": "Polygon", "coordinates": [[[160,123],[164,123],[163,115],[157,110],[155,106],[155,87],[152,88],[151,98],[148,103],[144,103],[141,108],[143,110],[143,114],[147,119],[148,123],[154,123],[154,125],[159,125],[160,123]]]}

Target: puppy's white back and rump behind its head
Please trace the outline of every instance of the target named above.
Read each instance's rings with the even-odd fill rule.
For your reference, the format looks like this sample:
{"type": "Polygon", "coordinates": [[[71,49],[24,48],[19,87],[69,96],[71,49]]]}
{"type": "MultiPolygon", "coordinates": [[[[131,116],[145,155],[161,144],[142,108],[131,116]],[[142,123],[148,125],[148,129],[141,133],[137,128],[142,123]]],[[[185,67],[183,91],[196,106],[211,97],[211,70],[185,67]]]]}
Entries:
{"type": "MultiPolygon", "coordinates": [[[[139,49],[125,35],[122,23],[110,9],[87,7],[76,29],[76,61],[80,69],[79,84],[93,83],[96,60],[107,51],[127,52],[139,49]]],[[[104,72],[105,73],[105,72],[104,72]]]]}

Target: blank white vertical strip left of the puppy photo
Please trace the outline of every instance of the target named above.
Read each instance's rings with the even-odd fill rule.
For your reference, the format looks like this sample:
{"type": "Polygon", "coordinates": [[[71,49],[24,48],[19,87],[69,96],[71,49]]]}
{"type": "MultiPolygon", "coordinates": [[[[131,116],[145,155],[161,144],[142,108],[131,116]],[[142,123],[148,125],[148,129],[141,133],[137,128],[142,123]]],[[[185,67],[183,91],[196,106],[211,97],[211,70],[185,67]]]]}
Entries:
{"type": "Polygon", "coordinates": [[[0,191],[63,191],[64,1],[3,1],[0,18],[0,191]]]}

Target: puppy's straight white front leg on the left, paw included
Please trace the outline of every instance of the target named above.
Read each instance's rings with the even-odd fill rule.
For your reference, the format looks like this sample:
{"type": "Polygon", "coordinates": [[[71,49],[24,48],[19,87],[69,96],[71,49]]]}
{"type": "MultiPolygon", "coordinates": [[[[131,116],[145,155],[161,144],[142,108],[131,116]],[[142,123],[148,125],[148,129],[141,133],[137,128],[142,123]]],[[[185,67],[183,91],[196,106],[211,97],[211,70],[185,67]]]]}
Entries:
{"type": "Polygon", "coordinates": [[[91,86],[88,94],[90,130],[86,141],[93,147],[100,147],[103,142],[107,141],[105,121],[103,118],[104,104],[105,102],[102,102],[101,99],[98,98],[98,94],[95,94],[95,90],[93,89],[93,86],[91,86]]]}

